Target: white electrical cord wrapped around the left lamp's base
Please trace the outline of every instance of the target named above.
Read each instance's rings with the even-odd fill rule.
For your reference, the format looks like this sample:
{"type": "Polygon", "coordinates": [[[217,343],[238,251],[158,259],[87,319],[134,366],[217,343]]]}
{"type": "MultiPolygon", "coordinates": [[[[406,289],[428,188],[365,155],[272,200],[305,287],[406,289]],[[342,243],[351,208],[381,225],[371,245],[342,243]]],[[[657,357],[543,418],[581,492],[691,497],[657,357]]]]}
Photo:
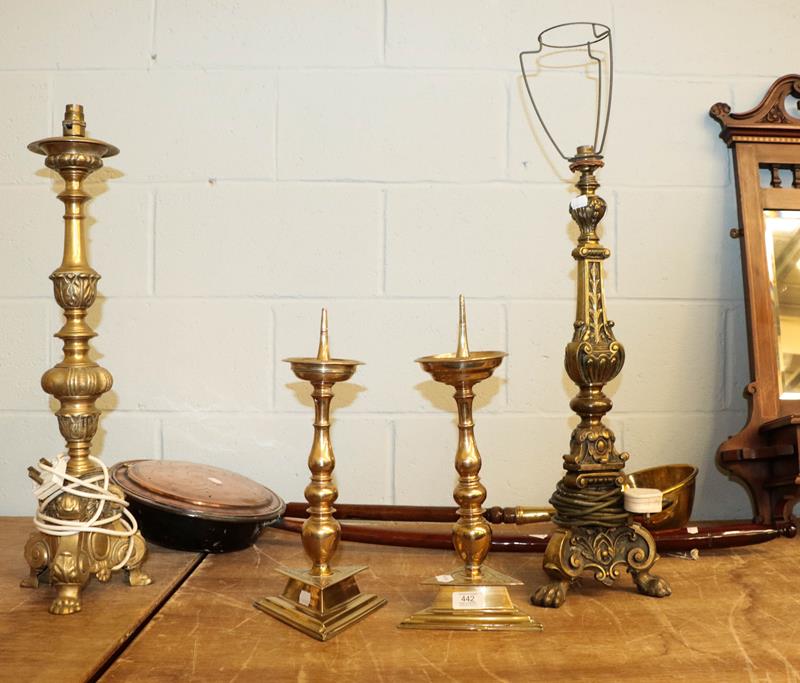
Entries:
{"type": "MultiPolygon", "coordinates": [[[[107,536],[132,537],[139,527],[136,523],[136,518],[127,509],[128,502],[108,490],[108,468],[103,461],[91,455],[88,457],[92,463],[100,467],[102,474],[95,474],[86,479],[79,479],[67,474],[66,463],[68,458],[63,453],[58,455],[55,465],[51,466],[46,462],[39,461],[39,469],[49,478],[49,481],[45,481],[34,490],[34,494],[39,498],[39,505],[33,518],[34,525],[39,531],[50,536],[71,536],[81,532],[88,532],[106,534],[107,536]],[[101,480],[102,485],[98,485],[97,482],[101,480]],[[86,521],[59,519],[45,514],[44,510],[47,505],[63,493],[69,493],[81,498],[91,498],[100,501],[100,503],[92,518],[86,521]],[[106,502],[118,505],[119,512],[109,517],[101,517],[106,502]],[[124,529],[108,528],[108,525],[117,520],[120,521],[124,529]]],[[[116,571],[124,567],[132,554],[133,542],[128,541],[128,549],[124,559],[118,565],[112,567],[111,570],[116,571]]]]}

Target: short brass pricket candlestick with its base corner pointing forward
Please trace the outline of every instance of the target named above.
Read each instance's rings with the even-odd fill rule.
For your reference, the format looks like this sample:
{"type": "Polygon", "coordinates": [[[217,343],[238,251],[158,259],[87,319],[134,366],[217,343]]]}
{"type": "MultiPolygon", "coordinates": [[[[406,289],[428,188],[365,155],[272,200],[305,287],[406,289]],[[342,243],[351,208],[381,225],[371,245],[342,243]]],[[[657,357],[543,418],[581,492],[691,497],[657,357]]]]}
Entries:
{"type": "Polygon", "coordinates": [[[258,600],[255,606],[312,638],[328,640],[386,604],[384,598],[359,590],[355,575],[366,566],[330,566],[341,533],[339,522],[333,518],[338,491],[332,477],[336,464],[330,439],[332,388],[336,382],[350,379],[361,362],[330,357],[328,313],[324,308],[317,357],[287,358],[285,362],[314,387],[314,442],[308,456],[311,483],[305,490],[309,507],[302,532],[303,548],[313,566],[279,569],[289,577],[283,594],[258,600]]]}

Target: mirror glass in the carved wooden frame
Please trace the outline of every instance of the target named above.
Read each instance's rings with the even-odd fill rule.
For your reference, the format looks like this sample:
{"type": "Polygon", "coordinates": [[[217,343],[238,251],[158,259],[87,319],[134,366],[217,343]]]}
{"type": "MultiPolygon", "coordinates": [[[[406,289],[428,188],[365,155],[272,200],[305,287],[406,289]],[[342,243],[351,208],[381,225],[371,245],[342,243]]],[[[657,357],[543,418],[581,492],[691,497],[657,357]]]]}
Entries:
{"type": "Polygon", "coordinates": [[[764,211],[780,397],[800,400],[800,211],[764,211]]]}

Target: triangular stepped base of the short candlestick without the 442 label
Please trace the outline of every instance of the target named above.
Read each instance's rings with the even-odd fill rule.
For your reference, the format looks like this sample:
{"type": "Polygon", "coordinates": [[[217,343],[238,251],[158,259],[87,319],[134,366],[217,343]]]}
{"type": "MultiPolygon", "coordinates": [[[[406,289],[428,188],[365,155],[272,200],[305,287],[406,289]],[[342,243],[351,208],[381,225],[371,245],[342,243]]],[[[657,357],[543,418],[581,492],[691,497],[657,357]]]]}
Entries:
{"type": "Polygon", "coordinates": [[[279,569],[289,577],[283,593],[253,604],[307,636],[329,640],[386,604],[385,598],[359,590],[355,575],[366,568],[339,567],[330,576],[279,569]]]}

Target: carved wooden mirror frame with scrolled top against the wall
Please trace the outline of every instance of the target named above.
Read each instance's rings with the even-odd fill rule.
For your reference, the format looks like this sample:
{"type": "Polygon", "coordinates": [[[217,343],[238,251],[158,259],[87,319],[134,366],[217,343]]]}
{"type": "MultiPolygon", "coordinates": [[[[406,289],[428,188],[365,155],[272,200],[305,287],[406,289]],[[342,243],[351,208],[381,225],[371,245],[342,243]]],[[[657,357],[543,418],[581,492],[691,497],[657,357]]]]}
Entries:
{"type": "Polygon", "coordinates": [[[741,245],[751,380],[747,424],[720,445],[717,464],[749,492],[754,521],[776,525],[791,522],[800,499],[800,400],[780,398],[764,228],[765,209],[800,211],[800,111],[786,111],[789,95],[800,98],[800,75],[779,78],[750,111],[731,114],[724,103],[710,111],[733,153],[740,227],[731,236],[741,245]],[[770,172],[769,187],[762,187],[762,169],[770,172]],[[788,187],[784,169],[791,171],[788,187]]]}

